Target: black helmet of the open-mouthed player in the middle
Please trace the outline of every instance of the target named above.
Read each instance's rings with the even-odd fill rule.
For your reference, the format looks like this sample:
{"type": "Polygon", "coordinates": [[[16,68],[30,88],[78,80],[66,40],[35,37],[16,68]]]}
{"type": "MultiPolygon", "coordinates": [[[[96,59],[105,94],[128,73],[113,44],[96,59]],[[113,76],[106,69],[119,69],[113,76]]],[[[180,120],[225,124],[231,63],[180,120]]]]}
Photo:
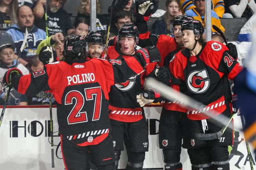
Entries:
{"type": "Polygon", "coordinates": [[[124,24],[117,33],[117,43],[120,43],[121,37],[134,37],[136,44],[139,43],[139,29],[134,24],[124,24]]]}

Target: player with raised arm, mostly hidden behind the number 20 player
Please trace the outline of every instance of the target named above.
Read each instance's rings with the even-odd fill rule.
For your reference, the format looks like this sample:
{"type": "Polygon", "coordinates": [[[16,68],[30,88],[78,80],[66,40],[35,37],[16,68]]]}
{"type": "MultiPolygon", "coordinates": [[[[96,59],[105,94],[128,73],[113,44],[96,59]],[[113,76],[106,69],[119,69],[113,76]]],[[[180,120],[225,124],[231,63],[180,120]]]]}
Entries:
{"type": "MultiPolygon", "coordinates": [[[[137,14],[138,16],[139,14],[137,14]]],[[[169,74],[166,74],[166,67],[169,66],[169,62],[176,54],[183,48],[183,42],[181,38],[181,24],[184,21],[193,20],[192,17],[181,15],[175,18],[171,25],[171,34],[174,37],[167,35],[151,35],[147,30],[147,23],[139,19],[143,17],[137,17],[137,25],[144,32],[140,34],[139,45],[147,46],[149,44],[156,46],[160,51],[161,62],[160,66],[165,66],[159,69],[161,80],[169,84],[169,74]]],[[[159,79],[159,77],[158,77],[159,79]]],[[[179,90],[177,86],[171,85],[173,88],[179,90]]],[[[180,86],[181,87],[181,86],[180,86]]],[[[186,85],[183,84],[183,88],[186,85]]],[[[143,106],[153,100],[144,98],[147,94],[150,96],[151,91],[144,91],[142,94],[137,95],[137,101],[143,106]]],[[[182,170],[182,164],[180,162],[181,144],[184,129],[184,118],[186,117],[187,110],[180,107],[175,102],[161,101],[162,112],[159,120],[159,147],[163,149],[164,155],[164,169],[165,170],[182,170]]]]}

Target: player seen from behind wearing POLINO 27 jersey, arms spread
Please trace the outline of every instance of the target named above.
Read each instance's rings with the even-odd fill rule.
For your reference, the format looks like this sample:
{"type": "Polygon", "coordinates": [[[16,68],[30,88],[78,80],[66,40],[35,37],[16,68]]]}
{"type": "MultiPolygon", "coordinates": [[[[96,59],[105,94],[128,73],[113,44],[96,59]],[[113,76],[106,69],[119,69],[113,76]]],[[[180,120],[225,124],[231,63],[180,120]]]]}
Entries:
{"type": "Polygon", "coordinates": [[[115,156],[109,135],[108,92],[111,85],[139,75],[149,62],[158,61],[158,56],[149,58],[150,49],[144,51],[112,60],[112,64],[99,58],[86,60],[85,39],[68,36],[63,61],[46,64],[30,75],[11,68],[4,81],[22,94],[48,91],[54,95],[66,170],[87,169],[88,151],[99,170],[111,170],[115,156]]]}

